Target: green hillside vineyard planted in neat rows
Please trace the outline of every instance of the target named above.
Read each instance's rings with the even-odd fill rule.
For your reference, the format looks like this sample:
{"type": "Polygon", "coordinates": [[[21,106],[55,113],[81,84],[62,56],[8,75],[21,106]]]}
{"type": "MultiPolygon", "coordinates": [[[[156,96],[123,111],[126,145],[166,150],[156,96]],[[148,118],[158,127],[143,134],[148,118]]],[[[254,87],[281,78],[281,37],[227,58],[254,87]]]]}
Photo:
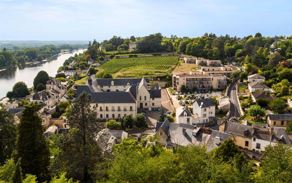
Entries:
{"type": "Polygon", "coordinates": [[[155,77],[170,73],[179,63],[179,56],[135,57],[112,59],[97,69],[114,77],[155,77]]]}

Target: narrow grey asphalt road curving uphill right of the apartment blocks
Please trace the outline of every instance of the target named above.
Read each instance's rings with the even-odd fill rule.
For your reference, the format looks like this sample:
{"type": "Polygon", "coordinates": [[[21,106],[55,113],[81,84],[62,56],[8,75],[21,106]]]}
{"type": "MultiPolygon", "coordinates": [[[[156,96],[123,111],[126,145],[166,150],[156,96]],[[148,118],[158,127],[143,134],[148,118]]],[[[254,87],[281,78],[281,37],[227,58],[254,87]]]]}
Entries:
{"type": "Polygon", "coordinates": [[[229,117],[235,117],[238,119],[240,114],[240,105],[237,100],[237,90],[236,90],[237,82],[231,83],[230,87],[228,88],[228,97],[230,98],[230,115],[229,117]]]}

